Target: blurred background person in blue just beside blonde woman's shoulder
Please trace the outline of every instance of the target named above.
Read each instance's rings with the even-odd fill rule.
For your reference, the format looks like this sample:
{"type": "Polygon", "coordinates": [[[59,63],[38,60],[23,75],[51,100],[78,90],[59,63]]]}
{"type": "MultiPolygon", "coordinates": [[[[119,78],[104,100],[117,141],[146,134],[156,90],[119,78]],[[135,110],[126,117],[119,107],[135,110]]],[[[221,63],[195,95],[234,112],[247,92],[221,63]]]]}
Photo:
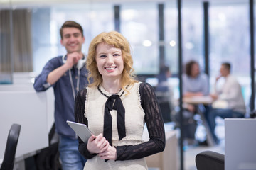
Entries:
{"type": "Polygon", "coordinates": [[[174,91],[168,82],[169,77],[171,77],[170,68],[166,65],[161,66],[157,75],[156,96],[165,123],[171,122],[171,113],[174,113],[174,91]]]}

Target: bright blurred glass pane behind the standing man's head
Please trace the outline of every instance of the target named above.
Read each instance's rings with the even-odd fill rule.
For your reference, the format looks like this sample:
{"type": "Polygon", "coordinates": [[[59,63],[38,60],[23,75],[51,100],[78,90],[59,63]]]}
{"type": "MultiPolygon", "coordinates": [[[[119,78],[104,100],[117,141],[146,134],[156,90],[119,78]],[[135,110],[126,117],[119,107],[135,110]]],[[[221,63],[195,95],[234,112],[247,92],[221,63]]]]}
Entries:
{"type": "Polygon", "coordinates": [[[73,20],[83,28],[85,44],[82,52],[87,54],[90,41],[103,31],[114,30],[113,5],[63,4],[48,8],[33,8],[33,70],[41,72],[52,57],[65,55],[65,47],[60,44],[60,27],[67,20],[73,20]]]}

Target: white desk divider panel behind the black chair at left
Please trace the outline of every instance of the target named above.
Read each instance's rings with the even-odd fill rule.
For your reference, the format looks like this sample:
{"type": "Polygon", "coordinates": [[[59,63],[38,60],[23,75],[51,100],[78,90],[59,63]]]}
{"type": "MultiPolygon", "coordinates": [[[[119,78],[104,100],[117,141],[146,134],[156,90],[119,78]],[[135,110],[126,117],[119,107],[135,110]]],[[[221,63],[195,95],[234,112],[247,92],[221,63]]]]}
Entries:
{"type": "MultiPolygon", "coordinates": [[[[23,159],[48,147],[50,120],[48,115],[50,114],[48,114],[47,93],[36,93],[36,91],[28,89],[25,91],[5,91],[4,89],[3,86],[0,86],[0,147],[2,148],[0,149],[0,159],[4,157],[11,125],[18,123],[21,125],[21,132],[18,138],[15,162],[19,166],[17,169],[22,170],[24,168],[23,159]]],[[[53,115],[53,113],[51,114],[53,115]]]]}

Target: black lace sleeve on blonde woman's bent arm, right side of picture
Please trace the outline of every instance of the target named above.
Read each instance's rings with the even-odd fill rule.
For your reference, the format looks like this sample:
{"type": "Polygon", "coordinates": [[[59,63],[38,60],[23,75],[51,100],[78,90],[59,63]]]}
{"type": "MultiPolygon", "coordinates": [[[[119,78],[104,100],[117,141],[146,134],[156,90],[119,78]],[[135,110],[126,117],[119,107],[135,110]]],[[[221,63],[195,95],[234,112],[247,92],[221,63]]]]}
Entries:
{"type": "Polygon", "coordinates": [[[151,85],[142,83],[139,86],[142,108],[145,112],[146,127],[149,131],[149,141],[139,145],[116,147],[117,160],[139,159],[164,151],[165,132],[159,103],[151,85]]]}

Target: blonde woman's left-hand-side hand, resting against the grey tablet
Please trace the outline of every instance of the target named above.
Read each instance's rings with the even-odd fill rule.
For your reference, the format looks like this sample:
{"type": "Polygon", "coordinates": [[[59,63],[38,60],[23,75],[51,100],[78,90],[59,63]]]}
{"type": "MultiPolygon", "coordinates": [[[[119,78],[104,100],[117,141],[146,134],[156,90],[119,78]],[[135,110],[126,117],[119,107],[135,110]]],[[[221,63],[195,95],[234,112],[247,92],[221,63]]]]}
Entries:
{"type": "Polygon", "coordinates": [[[91,154],[105,152],[109,146],[109,142],[103,137],[102,133],[97,136],[92,135],[87,142],[87,149],[91,154]]]}

